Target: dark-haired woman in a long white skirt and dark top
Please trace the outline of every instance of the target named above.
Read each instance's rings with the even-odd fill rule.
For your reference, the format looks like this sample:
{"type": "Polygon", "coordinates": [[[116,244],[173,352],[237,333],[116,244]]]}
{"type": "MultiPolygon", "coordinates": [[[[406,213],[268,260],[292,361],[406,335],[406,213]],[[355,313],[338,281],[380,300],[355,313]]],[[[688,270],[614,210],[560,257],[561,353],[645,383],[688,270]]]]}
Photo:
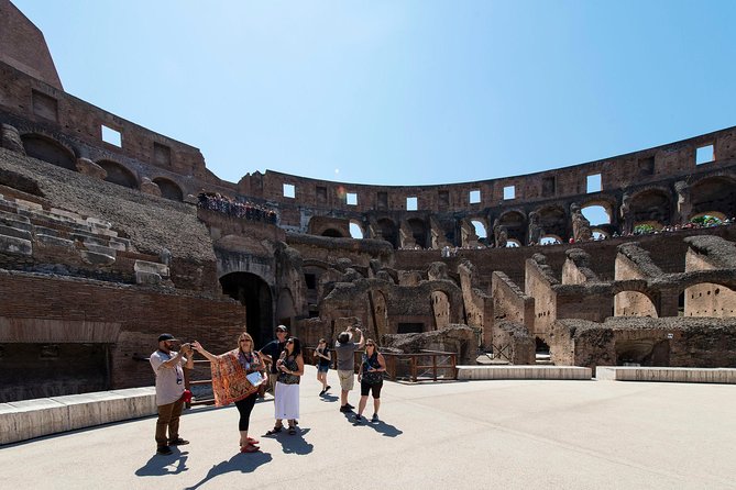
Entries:
{"type": "Polygon", "coordinates": [[[276,361],[278,377],[274,397],[274,428],[266,435],[274,435],[284,427],[283,421],[288,422],[288,433],[296,434],[297,419],[299,419],[299,380],[304,375],[304,357],[301,356],[301,343],[297,337],[286,341],[286,347],[281,358],[276,361]]]}

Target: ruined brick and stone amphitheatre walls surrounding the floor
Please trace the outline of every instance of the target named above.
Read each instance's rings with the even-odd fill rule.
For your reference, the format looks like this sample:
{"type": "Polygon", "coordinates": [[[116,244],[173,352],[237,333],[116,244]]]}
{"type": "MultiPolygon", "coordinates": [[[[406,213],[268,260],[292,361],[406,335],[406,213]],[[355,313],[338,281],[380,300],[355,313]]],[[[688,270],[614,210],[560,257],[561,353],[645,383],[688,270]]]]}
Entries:
{"type": "Polygon", "coordinates": [[[736,225],[679,227],[736,215],[736,127],[476,182],[234,183],[64,92],[8,0],[0,22],[0,401],[149,385],[135,359],[162,331],[217,352],[277,323],[307,345],[349,325],[393,345],[462,324],[515,364],[549,347],[581,366],[736,365],[736,225]],[[202,192],[245,211],[201,207],[202,192]],[[582,215],[592,205],[607,223],[582,215]]]}

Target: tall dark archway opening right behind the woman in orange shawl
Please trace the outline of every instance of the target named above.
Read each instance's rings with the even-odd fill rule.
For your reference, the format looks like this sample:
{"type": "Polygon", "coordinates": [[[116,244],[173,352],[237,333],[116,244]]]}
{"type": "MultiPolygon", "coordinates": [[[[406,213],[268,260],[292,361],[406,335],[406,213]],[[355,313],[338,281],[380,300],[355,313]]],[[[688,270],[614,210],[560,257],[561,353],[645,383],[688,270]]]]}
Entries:
{"type": "Polygon", "coordinates": [[[272,338],[275,327],[271,288],[260,276],[230,272],[220,278],[222,292],[245,307],[245,328],[256,346],[272,338]]]}

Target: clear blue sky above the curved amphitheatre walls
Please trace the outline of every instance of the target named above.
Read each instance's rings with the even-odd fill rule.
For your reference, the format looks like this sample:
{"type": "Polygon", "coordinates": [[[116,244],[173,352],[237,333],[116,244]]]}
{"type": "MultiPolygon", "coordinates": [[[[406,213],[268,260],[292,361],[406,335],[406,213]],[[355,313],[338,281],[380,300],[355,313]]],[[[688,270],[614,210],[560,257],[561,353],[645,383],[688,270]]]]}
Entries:
{"type": "Polygon", "coordinates": [[[67,92],[265,169],[422,185],[736,125],[736,1],[13,0],[67,92]]]}

